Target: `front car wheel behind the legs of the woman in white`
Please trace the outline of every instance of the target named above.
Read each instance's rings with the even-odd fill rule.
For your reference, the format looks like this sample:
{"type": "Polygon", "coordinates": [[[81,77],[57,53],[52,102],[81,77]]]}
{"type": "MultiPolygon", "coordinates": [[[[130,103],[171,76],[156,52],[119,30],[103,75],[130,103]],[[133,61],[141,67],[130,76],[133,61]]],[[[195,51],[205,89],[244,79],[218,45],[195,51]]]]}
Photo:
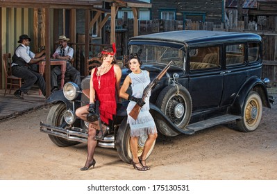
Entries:
{"type": "MultiPolygon", "coordinates": [[[[119,129],[117,131],[117,140],[116,140],[116,148],[117,153],[122,161],[125,161],[128,164],[131,164],[132,161],[132,152],[131,152],[131,146],[130,146],[130,133],[131,129],[130,126],[127,124],[127,117],[124,118],[124,120],[121,122],[121,125],[119,126],[119,129]]],[[[146,139],[148,138],[147,134],[142,135],[138,139],[138,145],[137,145],[137,155],[140,157],[142,155],[142,152],[144,150],[144,143],[146,139]]],[[[151,152],[153,151],[155,142],[151,146],[146,159],[151,155],[151,152]]]]}

